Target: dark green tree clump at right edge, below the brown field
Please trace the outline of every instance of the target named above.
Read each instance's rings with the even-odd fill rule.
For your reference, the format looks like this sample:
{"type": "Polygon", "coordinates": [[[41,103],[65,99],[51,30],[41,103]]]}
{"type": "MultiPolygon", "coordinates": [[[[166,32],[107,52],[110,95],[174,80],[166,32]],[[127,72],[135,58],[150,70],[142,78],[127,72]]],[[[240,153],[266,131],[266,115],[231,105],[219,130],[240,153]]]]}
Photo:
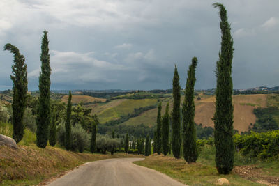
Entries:
{"type": "Polygon", "coordinates": [[[277,107],[255,108],[254,114],[257,116],[257,121],[250,130],[254,132],[267,132],[279,129],[278,123],[273,118],[273,116],[279,114],[277,107]]]}

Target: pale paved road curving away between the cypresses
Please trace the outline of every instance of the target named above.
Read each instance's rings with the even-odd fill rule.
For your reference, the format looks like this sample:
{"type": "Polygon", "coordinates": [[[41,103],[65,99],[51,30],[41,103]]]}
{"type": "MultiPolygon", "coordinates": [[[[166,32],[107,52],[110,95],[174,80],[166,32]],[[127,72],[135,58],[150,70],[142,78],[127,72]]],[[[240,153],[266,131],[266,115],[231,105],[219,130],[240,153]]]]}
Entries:
{"type": "Polygon", "coordinates": [[[48,185],[183,185],[163,173],[132,163],[140,160],[144,158],[117,158],[88,162],[48,185]]]}

